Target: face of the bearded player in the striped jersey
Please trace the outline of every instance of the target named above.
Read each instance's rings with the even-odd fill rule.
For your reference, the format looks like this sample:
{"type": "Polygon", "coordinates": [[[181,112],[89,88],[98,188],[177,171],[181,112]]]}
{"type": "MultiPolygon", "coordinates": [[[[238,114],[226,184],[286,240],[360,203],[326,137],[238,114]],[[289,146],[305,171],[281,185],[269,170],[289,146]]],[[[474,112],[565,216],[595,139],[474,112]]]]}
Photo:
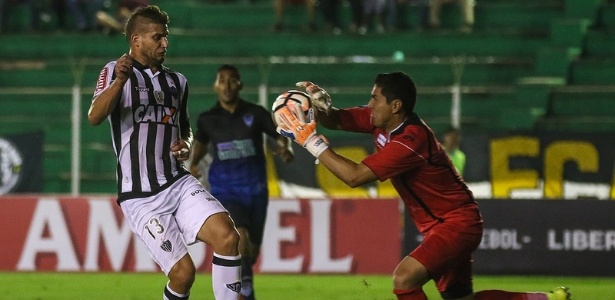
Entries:
{"type": "Polygon", "coordinates": [[[147,23],[143,24],[134,44],[138,57],[149,67],[158,67],[164,62],[169,41],[169,28],[167,25],[147,23]]]}

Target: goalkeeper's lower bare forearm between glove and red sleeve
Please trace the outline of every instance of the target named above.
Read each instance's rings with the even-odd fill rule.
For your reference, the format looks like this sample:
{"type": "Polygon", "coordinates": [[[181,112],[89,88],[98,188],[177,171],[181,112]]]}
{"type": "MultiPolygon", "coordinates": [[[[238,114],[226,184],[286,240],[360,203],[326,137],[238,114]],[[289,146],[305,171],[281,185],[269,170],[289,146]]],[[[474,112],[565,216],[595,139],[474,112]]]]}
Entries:
{"type": "Polygon", "coordinates": [[[378,180],[376,174],[365,164],[343,157],[331,148],[323,151],[318,160],[349,187],[354,188],[378,180]]]}

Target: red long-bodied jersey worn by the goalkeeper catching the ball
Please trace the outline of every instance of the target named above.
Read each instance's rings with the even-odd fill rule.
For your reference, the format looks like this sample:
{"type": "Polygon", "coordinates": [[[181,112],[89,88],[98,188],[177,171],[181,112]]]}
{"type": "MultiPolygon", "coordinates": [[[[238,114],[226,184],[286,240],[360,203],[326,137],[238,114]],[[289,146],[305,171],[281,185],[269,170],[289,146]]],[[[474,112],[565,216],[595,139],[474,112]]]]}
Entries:
{"type": "Polygon", "coordinates": [[[390,134],[371,123],[371,109],[339,111],[344,130],[372,133],[376,152],[363,160],[379,178],[391,179],[421,233],[442,222],[482,222],[472,192],[444,148],[418,115],[390,134]]]}

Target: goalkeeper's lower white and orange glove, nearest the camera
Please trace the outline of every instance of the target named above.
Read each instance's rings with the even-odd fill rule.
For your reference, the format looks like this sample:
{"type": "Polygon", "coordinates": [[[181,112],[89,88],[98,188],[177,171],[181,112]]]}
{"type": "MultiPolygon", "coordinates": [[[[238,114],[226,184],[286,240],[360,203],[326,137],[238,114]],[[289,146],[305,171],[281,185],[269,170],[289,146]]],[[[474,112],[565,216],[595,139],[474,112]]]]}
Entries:
{"type": "Polygon", "coordinates": [[[277,110],[275,114],[276,120],[280,124],[276,128],[278,133],[292,139],[307,149],[314,157],[318,158],[329,148],[329,141],[324,136],[316,134],[316,121],[313,119],[309,123],[305,123],[288,107],[277,110]]]}

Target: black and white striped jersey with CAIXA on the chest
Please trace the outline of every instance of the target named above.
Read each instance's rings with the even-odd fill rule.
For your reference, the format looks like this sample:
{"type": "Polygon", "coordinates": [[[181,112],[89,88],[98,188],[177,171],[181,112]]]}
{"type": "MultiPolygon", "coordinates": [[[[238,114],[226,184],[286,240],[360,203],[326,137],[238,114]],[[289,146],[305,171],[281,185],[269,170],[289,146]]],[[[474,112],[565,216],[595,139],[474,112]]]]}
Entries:
{"type": "MultiPolygon", "coordinates": [[[[96,98],[115,79],[115,61],[101,71],[96,98]]],[[[171,153],[171,145],[190,130],[187,115],[188,83],[181,73],[149,68],[133,61],[133,74],[109,115],[117,156],[118,203],[147,197],[189,174],[171,153]]]]}

